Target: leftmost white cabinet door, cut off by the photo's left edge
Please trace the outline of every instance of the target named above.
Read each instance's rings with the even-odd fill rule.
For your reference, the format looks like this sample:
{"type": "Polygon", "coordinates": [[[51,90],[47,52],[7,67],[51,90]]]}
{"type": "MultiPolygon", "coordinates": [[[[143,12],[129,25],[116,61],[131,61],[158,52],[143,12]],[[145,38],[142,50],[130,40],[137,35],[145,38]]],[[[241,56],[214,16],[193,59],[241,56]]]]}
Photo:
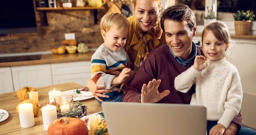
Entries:
{"type": "Polygon", "coordinates": [[[0,94],[13,91],[11,67],[0,68],[0,94]]]}

